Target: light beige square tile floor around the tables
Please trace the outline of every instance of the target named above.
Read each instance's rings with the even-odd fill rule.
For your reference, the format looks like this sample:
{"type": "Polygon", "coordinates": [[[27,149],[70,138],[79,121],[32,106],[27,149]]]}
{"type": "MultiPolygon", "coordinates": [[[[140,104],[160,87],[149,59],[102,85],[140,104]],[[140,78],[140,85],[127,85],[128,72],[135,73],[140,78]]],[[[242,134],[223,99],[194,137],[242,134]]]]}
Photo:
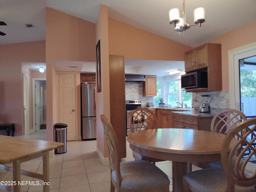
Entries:
{"type": "MultiPolygon", "coordinates": [[[[46,140],[46,130],[39,130],[26,138],[46,140]]],[[[127,142],[127,157],[122,161],[131,161],[132,150],[127,142]]],[[[10,164],[11,166],[11,164],[10,164]]],[[[170,192],[172,191],[172,162],[157,162],[158,166],[170,179],[170,192]]],[[[42,158],[21,163],[21,169],[42,173],[42,158]]],[[[21,176],[24,181],[42,180],[21,176]]],[[[0,170],[0,180],[11,181],[12,173],[0,170]]],[[[42,192],[43,187],[36,185],[22,186],[28,192],[42,192]]],[[[110,168],[103,166],[96,153],[96,140],[68,141],[67,152],[55,154],[50,158],[50,192],[109,192],[110,168]]],[[[1,192],[1,189],[0,189],[1,192]]]]}

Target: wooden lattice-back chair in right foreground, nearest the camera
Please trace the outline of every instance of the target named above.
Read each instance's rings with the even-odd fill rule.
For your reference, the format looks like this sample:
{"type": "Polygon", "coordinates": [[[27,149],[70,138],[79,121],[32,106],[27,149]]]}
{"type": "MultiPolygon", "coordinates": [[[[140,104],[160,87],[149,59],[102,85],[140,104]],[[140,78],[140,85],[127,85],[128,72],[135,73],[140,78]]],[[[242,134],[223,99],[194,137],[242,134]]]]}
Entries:
{"type": "Polygon", "coordinates": [[[252,145],[256,140],[255,131],[256,118],[244,120],[230,129],[222,144],[222,168],[201,169],[184,175],[184,191],[255,192],[256,170],[248,168],[249,160],[256,154],[256,148],[252,145]],[[232,140],[235,144],[230,151],[232,140]],[[245,158],[244,154],[249,148],[251,152],[245,158]]]}

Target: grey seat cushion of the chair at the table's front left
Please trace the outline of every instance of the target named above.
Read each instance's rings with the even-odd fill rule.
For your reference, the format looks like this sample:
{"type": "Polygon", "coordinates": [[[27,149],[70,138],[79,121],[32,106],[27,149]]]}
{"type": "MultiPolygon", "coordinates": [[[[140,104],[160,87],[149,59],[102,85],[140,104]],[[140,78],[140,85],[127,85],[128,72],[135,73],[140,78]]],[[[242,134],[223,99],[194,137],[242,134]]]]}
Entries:
{"type": "MultiPolygon", "coordinates": [[[[122,162],[120,163],[120,172],[122,188],[142,189],[170,185],[168,176],[148,161],[122,162]]],[[[115,171],[112,171],[112,178],[116,182],[115,171]]]]}

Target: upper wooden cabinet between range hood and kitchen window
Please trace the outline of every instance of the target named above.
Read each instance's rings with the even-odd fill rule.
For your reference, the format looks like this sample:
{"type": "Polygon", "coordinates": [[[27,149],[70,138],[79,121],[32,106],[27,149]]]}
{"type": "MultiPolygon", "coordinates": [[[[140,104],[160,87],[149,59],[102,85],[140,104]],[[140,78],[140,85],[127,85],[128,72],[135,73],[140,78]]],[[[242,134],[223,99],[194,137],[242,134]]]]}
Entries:
{"type": "Polygon", "coordinates": [[[156,75],[145,75],[142,82],[142,96],[156,96],[156,75]]]}

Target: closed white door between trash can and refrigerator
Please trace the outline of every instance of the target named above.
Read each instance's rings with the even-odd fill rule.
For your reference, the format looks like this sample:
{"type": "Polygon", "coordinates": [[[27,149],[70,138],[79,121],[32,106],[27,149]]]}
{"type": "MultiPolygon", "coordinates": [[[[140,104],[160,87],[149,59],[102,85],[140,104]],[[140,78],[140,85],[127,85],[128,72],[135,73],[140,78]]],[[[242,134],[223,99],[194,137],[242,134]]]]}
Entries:
{"type": "Polygon", "coordinates": [[[76,140],[75,74],[59,74],[59,122],[68,125],[67,140],[76,140]]]}

